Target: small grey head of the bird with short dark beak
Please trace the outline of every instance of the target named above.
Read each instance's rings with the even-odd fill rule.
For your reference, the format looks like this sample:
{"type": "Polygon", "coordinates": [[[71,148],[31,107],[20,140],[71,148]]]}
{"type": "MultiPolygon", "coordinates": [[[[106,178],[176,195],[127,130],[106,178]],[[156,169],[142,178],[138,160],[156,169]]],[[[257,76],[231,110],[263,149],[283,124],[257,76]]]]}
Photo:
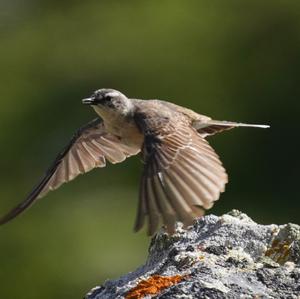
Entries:
{"type": "Polygon", "coordinates": [[[103,114],[127,115],[132,110],[132,102],[124,94],[115,89],[98,89],[82,103],[91,105],[100,116],[103,114]]]}

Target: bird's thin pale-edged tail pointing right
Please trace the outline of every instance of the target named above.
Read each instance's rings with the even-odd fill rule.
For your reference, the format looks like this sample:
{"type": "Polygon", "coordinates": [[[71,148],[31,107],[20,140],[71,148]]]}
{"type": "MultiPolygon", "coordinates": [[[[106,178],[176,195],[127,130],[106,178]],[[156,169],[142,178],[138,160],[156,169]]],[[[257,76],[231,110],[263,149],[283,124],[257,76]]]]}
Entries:
{"type": "Polygon", "coordinates": [[[250,128],[269,128],[268,125],[256,125],[256,124],[244,124],[231,121],[222,121],[222,120],[204,120],[196,121],[193,124],[194,128],[202,137],[214,135],[225,130],[230,130],[237,127],[250,127],[250,128]]]}

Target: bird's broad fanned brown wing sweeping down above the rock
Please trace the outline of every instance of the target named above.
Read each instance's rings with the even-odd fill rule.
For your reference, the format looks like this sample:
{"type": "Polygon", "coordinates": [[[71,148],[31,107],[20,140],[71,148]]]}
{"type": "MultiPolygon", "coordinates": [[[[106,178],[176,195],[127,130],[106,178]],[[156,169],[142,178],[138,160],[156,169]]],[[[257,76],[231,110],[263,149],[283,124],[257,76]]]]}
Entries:
{"type": "Polygon", "coordinates": [[[172,233],[176,220],[189,225],[212,207],[224,191],[227,174],[218,155],[182,114],[162,116],[148,110],[137,113],[136,122],[145,135],[145,166],[135,230],[148,216],[148,234],[156,231],[161,218],[172,233]]]}

